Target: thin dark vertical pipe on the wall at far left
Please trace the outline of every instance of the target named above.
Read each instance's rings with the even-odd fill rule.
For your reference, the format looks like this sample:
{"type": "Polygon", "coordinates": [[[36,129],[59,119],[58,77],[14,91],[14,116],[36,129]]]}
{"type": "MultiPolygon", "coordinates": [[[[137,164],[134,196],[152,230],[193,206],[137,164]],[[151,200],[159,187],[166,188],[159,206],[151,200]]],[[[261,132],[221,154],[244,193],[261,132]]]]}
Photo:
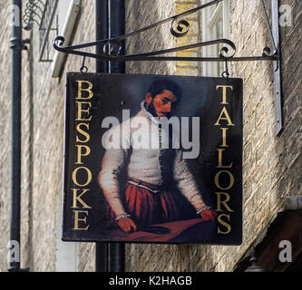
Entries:
{"type": "MultiPolygon", "coordinates": [[[[12,131],[11,131],[11,213],[10,239],[20,249],[20,205],[21,205],[21,0],[12,0],[12,63],[11,63],[11,100],[12,100],[12,131]]],[[[19,253],[18,253],[19,254],[19,253]]],[[[16,256],[15,256],[16,257],[16,256]]],[[[20,254],[18,259],[9,263],[10,272],[20,271],[20,254]]]]}

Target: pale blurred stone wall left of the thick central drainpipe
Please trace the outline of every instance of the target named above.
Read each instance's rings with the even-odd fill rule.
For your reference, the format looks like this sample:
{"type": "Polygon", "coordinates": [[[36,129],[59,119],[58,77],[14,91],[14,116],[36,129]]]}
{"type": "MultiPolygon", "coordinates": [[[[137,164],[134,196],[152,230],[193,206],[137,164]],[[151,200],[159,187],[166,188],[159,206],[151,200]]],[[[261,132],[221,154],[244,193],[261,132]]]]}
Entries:
{"type": "MultiPolygon", "coordinates": [[[[2,22],[1,75],[10,74],[9,5],[1,1],[2,22]],[[3,8],[4,7],[4,8],[3,8]]],[[[94,39],[94,5],[83,5],[79,27],[73,43],[94,39]],[[89,21],[87,21],[89,19],[89,21]],[[84,29],[83,29],[84,27],[84,29]]],[[[23,38],[31,33],[23,30],[23,38]]],[[[23,52],[22,69],[22,225],[21,266],[31,271],[55,271],[56,227],[58,201],[63,191],[63,116],[66,72],[79,72],[82,59],[69,56],[61,78],[53,78],[52,63],[39,63],[38,27],[34,25],[32,44],[23,52]],[[30,62],[32,59],[33,63],[30,62]]],[[[53,40],[52,40],[53,42],[53,40]]],[[[87,60],[90,72],[95,71],[94,61],[87,60]]],[[[0,269],[8,268],[10,212],[10,82],[1,82],[1,195],[0,195],[0,269]]],[[[58,237],[61,238],[61,237],[58,237]]],[[[94,270],[93,244],[78,245],[79,271],[94,270]]]]}

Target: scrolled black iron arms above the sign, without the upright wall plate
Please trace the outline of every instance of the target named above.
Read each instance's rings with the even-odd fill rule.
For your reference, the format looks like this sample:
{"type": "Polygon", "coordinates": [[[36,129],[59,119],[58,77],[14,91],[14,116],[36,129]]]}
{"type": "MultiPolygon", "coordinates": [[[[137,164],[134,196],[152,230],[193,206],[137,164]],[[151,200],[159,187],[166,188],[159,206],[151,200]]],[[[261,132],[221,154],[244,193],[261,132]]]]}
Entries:
{"type": "MultiPolygon", "coordinates": [[[[155,24],[148,25],[139,30],[136,30],[129,34],[123,34],[121,36],[99,40],[93,43],[83,43],[73,46],[63,46],[64,38],[63,36],[58,36],[54,40],[54,49],[62,52],[62,53],[70,53],[85,57],[91,57],[96,59],[101,59],[103,61],[115,61],[115,62],[130,62],[130,61],[185,61],[185,62],[244,62],[244,61],[277,61],[278,60],[278,51],[276,49],[276,45],[273,42],[274,52],[271,53],[271,50],[268,47],[263,49],[262,55],[258,56],[235,56],[237,52],[237,48],[235,43],[230,41],[229,39],[218,39],[218,40],[210,40],[208,42],[202,43],[193,43],[190,45],[184,45],[169,49],[164,49],[161,51],[148,52],[148,53],[136,53],[136,54],[128,54],[121,55],[122,52],[122,41],[128,39],[134,35],[141,34],[143,32],[149,31],[152,28],[160,26],[162,24],[166,24],[170,22],[170,34],[174,37],[182,37],[188,34],[190,31],[190,24],[187,20],[183,19],[183,17],[194,14],[210,5],[216,5],[222,2],[223,0],[214,0],[210,1],[205,5],[200,5],[188,11],[185,11],[181,14],[176,14],[164,20],[161,20],[155,24]],[[185,51],[191,48],[204,47],[208,45],[214,45],[222,43],[224,46],[220,49],[219,55],[217,57],[178,57],[178,56],[169,56],[162,55],[167,53],[175,53],[179,51],[185,51]],[[80,51],[83,48],[92,47],[96,45],[102,44],[103,53],[87,53],[80,51]]],[[[263,1],[263,0],[261,0],[263,1]]],[[[275,0],[272,0],[275,1],[275,0]]],[[[264,5],[262,3],[262,5],[264,5]]],[[[264,11],[266,12],[265,6],[263,6],[264,11]]],[[[268,18],[268,14],[266,17],[268,18]]],[[[269,26],[269,25],[268,25],[269,26]]],[[[271,30],[269,30],[271,34],[271,30]]]]}

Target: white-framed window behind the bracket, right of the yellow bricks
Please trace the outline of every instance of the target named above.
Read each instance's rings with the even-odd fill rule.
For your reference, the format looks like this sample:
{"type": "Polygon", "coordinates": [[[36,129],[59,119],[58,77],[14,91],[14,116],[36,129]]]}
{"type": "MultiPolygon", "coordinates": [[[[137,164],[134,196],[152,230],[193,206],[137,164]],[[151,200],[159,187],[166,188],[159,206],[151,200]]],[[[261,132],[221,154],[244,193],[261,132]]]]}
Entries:
{"type": "MultiPolygon", "coordinates": [[[[201,0],[201,4],[209,3],[209,0],[201,0]]],[[[203,9],[201,14],[201,38],[202,42],[229,38],[229,0],[219,2],[203,9]]],[[[205,46],[202,55],[205,57],[218,57],[223,44],[205,46]]],[[[224,71],[224,63],[203,63],[202,75],[217,77],[224,71]]]]}

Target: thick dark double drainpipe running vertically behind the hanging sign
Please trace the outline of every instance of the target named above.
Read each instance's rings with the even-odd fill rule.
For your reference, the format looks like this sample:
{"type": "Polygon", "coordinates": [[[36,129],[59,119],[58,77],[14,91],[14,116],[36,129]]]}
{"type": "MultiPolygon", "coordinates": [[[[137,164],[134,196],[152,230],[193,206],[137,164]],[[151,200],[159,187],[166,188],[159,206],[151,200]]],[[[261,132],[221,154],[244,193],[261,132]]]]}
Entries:
{"type": "MultiPolygon", "coordinates": [[[[96,40],[124,34],[124,0],[95,0],[95,23],[96,40]]],[[[96,52],[102,53],[102,45],[97,46],[96,52]]],[[[125,73],[125,64],[97,60],[96,73],[125,73]]],[[[96,243],[95,249],[96,272],[124,272],[124,244],[96,243]]]]}

